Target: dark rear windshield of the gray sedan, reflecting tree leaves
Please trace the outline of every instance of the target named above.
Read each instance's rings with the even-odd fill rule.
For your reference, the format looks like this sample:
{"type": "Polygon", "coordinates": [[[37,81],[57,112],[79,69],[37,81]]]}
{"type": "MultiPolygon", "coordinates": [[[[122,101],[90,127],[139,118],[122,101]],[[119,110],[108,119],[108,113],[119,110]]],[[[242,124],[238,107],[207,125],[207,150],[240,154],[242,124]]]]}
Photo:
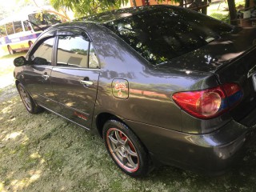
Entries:
{"type": "Polygon", "coordinates": [[[168,6],[107,22],[105,26],[153,65],[196,50],[233,30],[233,26],[214,18],[168,6]]]}

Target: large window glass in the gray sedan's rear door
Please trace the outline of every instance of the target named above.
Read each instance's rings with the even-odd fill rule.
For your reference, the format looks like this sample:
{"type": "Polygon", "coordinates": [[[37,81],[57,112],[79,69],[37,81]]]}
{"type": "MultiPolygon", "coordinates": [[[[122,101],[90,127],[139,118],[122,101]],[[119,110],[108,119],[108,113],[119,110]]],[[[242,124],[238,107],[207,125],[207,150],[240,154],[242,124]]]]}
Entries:
{"type": "Polygon", "coordinates": [[[88,68],[89,43],[82,36],[59,36],[57,66],[88,68]]]}

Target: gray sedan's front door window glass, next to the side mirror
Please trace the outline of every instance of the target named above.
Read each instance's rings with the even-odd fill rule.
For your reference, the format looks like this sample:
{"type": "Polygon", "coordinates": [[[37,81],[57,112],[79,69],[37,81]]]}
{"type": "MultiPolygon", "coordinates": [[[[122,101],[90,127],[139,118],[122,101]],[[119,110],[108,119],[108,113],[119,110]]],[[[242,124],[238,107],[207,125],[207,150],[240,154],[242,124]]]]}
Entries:
{"type": "Polygon", "coordinates": [[[51,54],[53,52],[54,38],[47,38],[42,44],[35,50],[31,56],[33,65],[50,65],[51,54]]]}

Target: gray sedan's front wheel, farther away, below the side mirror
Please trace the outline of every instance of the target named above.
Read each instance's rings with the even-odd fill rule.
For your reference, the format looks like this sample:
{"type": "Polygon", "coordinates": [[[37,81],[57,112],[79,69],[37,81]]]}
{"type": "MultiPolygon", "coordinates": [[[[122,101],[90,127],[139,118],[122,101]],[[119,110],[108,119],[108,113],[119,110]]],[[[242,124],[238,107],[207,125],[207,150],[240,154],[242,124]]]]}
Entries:
{"type": "Polygon", "coordinates": [[[26,110],[30,112],[30,114],[38,114],[42,111],[42,107],[38,106],[33,98],[31,98],[30,94],[26,91],[25,87],[22,86],[21,83],[18,83],[17,86],[18,93],[22,98],[22,102],[24,106],[26,107],[26,110]]]}

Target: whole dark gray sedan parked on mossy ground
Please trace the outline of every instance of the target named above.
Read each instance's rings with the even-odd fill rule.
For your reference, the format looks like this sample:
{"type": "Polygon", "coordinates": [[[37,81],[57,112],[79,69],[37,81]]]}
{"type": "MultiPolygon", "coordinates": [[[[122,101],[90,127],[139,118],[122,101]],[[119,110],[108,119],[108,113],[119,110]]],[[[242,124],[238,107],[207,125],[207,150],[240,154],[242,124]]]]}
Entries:
{"type": "Polygon", "coordinates": [[[219,174],[254,134],[255,37],[177,6],[114,10],[44,31],[14,77],[26,110],[99,134],[126,174],[219,174]]]}

